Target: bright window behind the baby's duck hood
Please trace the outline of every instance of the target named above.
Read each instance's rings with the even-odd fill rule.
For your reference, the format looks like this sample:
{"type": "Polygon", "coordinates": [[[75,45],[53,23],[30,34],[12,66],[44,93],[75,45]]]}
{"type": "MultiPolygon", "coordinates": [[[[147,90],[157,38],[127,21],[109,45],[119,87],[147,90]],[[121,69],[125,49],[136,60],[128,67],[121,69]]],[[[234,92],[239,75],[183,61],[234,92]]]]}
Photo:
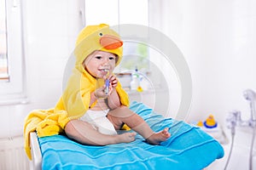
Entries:
{"type": "MultiPolygon", "coordinates": [[[[148,26],[148,0],[84,0],[86,25],[106,23],[109,26],[133,24],[148,26]],[[136,5],[134,5],[136,4],[136,5]]],[[[144,37],[148,38],[148,37],[144,37]]],[[[124,70],[148,72],[148,46],[124,41],[124,54],[115,72],[124,70]]]]}

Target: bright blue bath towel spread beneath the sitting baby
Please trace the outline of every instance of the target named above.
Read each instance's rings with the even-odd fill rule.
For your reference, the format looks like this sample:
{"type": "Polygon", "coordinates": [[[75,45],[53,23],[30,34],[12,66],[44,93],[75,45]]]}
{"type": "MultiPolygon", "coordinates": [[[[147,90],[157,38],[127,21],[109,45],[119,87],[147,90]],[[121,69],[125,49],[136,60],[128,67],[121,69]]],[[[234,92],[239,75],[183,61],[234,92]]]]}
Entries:
{"type": "Polygon", "coordinates": [[[92,146],[79,144],[65,135],[38,139],[43,155],[42,169],[174,169],[201,170],[224,156],[223,147],[186,122],[164,118],[142,103],[133,102],[137,112],[155,131],[170,127],[171,138],[151,145],[137,134],[128,144],[92,146]]]}

